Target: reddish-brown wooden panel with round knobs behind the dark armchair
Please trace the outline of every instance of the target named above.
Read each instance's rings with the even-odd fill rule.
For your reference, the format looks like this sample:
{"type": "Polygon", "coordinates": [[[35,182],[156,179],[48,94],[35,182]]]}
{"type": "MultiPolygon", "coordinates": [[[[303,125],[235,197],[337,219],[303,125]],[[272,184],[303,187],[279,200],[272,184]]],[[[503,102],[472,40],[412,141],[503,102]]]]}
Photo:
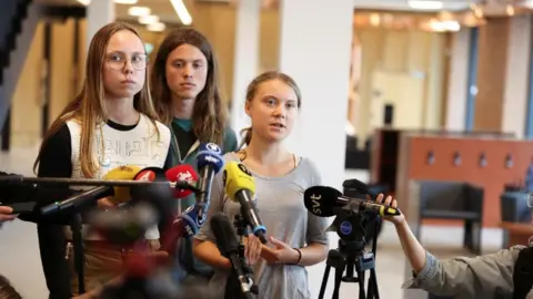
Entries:
{"type": "MultiPolygon", "coordinates": [[[[405,165],[399,168],[396,197],[409,200],[405,184],[411,179],[460,181],[469,182],[484,188],[483,227],[497,227],[501,220],[500,195],[504,185],[523,181],[533,156],[533,142],[466,138],[443,136],[404,136],[400,161],[405,165]],[[433,165],[426,163],[429,151],[433,151],[433,165]],[[453,154],[459,152],[462,163],[453,164],[453,154]],[[480,155],[485,153],[487,164],[480,165],[480,155]],[[505,166],[506,156],[513,157],[513,166],[505,166]]],[[[424,221],[426,223],[426,221],[424,221]]],[[[444,224],[444,221],[428,221],[444,224]]],[[[446,224],[450,224],[446,221],[446,224]]]]}

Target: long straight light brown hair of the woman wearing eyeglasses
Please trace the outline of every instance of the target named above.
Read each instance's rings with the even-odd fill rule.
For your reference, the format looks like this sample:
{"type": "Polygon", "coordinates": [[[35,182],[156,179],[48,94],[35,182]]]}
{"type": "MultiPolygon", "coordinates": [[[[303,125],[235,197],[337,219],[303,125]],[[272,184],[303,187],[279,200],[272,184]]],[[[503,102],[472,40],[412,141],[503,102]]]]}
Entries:
{"type": "MultiPolygon", "coordinates": [[[[81,171],[86,177],[92,177],[98,171],[98,165],[93,159],[93,137],[98,124],[108,121],[108,112],[105,110],[105,91],[103,87],[102,68],[105,62],[105,51],[111,37],[122,30],[129,30],[140,38],[137,30],[124,22],[112,22],[102,27],[91,40],[86,62],[86,78],[81,92],[71,101],[61,114],[56,118],[48,130],[39,150],[33,172],[36,172],[41,158],[42,148],[50,136],[56,134],[59,128],[69,120],[74,118],[81,125],[80,140],[80,163],[81,171]]],[[[145,80],[142,90],[133,96],[133,105],[137,111],[145,114],[151,118],[155,128],[155,120],[158,114],[152,103],[148,82],[148,68],[145,70],[145,80]]],[[[159,135],[159,131],[157,131],[159,135]]],[[[102,141],[103,142],[103,141],[102,141]]],[[[102,145],[103,146],[103,145],[102,145]]]]}

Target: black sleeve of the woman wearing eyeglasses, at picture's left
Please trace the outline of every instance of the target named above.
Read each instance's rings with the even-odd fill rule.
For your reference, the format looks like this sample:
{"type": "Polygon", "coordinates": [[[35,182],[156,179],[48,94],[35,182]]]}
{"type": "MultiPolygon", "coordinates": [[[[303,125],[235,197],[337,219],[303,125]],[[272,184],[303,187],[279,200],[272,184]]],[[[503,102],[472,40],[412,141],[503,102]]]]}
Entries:
{"type": "MultiPolygon", "coordinates": [[[[42,147],[39,163],[39,177],[71,177],[71,136],[67,125],[52,135],[42,147]]],[[[68,187],[38,187],[38,206],[69,197],[72,193],[68,187]]],[[[63,215],[64,216],[64,215],[63,215]]],[[[59,215],[58,215],[58,218],[59,215]]],[[[61,221],[59,221],[61,223],[61,221]]],[[[39,221],[37,225],[41,264],[50,291],[50,299],[67,299],[72,297],[70,287],[70,270],[66,256],[67,239],[64,226],[50,221],[39,221]]]]}

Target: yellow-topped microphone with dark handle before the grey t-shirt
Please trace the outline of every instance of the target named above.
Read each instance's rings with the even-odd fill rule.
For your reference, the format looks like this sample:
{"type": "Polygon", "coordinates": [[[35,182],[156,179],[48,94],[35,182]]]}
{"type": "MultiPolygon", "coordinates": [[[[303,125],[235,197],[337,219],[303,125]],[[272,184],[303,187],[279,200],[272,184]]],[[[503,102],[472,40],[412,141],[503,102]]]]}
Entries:
{"type": "Polygon", "coordinates": [[[253,235],[262,244],[265,244],[266,227],[263,226],[253,204],[255,183],[252,173],[242,163],[228,162],[223,173],[223,181],[225,194],[232,202],[241,205],[242,217],[252,227],[253,235]]]}

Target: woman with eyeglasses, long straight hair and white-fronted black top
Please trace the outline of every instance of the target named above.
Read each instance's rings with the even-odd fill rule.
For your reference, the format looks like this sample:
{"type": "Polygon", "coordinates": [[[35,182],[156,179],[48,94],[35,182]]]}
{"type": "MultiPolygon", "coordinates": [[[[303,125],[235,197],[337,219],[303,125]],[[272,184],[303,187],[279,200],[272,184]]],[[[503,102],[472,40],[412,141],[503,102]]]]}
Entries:
{"type": "MultiPolygon", "coordinates": [[[[94,34],[83,89],[42,141],[34,164],[39,177],[101,179],[119,166],[165,166],[170,130],[158,121],[145,82],[147,63],[143,42],[131,25],[113,22],[94,34]]],[[[54,202],[68,194],[56,193],[47,199],[54,202]]],[[[92,208],[112,209],[117,204],[107,197],[92,208]]],[[[82,231],[84,282],[89,291],[120,274],[130,248],[111,245],[87,228],[84,225],[82,231]]],[[[70,229],[40,223],[38,235],[50,298],[71,298],[78,292],[78,280],[71,266],[70,229]]],[[[145,239],[152,249],[159,248],[157,228],[149,230],[145,239]]]]}

